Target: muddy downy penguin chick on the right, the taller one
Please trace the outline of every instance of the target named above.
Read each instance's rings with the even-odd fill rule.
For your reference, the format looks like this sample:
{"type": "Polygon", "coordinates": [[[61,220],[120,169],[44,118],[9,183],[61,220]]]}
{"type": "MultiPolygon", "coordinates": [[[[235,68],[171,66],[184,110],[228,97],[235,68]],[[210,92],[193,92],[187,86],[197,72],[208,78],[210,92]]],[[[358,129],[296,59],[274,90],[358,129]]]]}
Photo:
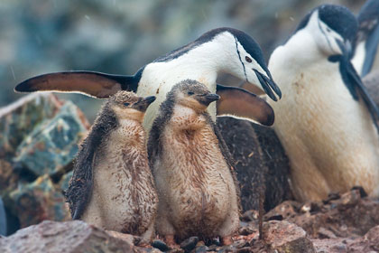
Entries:
{"type": "Polygon", "coordinates": [[[231,155],[207,112],[218,98],[196,80],[181,81],[153,122],[148,154],[160,198],[156,229],[169,245],[195,235],[230,244],[238,229],[231,155]]]}

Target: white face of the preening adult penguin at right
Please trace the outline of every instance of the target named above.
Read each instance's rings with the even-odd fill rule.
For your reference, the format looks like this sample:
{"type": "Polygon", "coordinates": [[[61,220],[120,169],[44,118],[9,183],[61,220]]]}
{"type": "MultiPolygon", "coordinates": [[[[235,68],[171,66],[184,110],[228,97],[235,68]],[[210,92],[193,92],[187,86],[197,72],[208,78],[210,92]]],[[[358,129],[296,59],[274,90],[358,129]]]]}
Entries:
{"type": "Polygon", "coordinates": [[[320,51],[324,54],[328,56],[342,54],[337,40],[344,42],[344,38],[319,19],[319,11],[315,11],[310,15],[310,21],[305,30],[308,30],[312,34],[320,51]]]}

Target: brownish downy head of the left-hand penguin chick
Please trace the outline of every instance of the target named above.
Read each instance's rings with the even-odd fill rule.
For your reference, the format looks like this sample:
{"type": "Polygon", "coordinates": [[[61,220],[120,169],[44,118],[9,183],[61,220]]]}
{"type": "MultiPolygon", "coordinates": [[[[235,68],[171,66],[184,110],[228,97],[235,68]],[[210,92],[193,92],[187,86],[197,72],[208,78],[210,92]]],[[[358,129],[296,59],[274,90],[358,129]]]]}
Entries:
{"type": "Polygon", "coordinates": [[[134,92],[121,90],[109,98],[108,105],[120,119],[143,121],[146,109],[155,100],[154,96],[138,97],[134,92]]]}

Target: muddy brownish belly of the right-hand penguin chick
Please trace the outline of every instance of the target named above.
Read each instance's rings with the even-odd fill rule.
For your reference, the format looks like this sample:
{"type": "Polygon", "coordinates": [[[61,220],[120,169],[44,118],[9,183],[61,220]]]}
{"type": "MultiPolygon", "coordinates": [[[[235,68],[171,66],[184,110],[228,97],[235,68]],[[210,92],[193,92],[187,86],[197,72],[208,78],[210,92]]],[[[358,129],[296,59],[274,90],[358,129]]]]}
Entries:
{"type": "Polygon", "coordinates": [[[163,134],[164,160],[155,173],[162,201],[158,217],[164,213],[178,238],[217,236],[227,216],[238,213],[236,187],[213,129],[185,131],[163,134]]]}

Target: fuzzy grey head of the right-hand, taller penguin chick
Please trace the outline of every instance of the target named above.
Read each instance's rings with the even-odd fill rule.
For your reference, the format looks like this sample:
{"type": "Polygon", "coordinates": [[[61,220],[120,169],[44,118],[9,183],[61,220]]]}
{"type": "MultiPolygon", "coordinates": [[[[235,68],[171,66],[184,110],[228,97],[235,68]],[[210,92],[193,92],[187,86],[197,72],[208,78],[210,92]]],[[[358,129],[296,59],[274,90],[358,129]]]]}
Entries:
{"type": "Polygon", "coordinates": [[[183,80],[176,84],[171,92],[177,104],[198,112],[205,111],[211,102],[220,98],[197,80],[183,80]]]}

